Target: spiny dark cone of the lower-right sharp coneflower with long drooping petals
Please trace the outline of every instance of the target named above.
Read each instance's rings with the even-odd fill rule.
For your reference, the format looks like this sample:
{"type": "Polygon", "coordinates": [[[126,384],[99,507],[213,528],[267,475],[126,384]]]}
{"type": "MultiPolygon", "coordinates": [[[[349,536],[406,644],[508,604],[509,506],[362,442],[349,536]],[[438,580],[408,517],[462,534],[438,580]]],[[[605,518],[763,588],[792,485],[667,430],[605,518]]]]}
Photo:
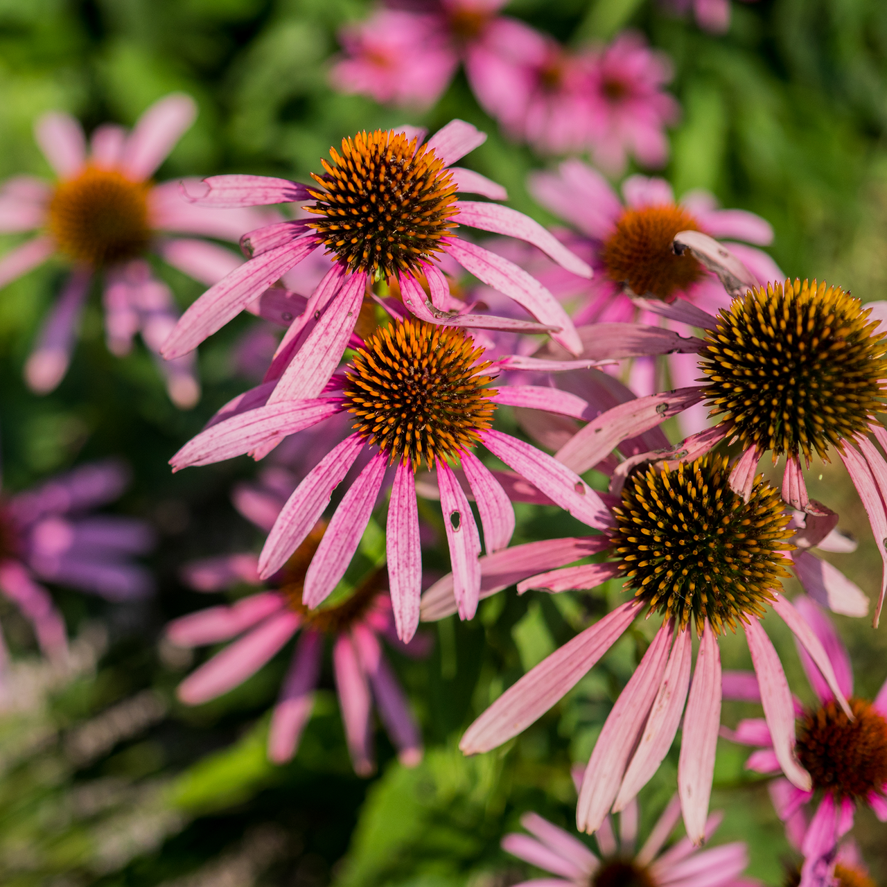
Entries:
{"type": "Polygon", "coordinates": [[[748,503],[730,490],[726,457],[705,456],[677,470],[632,475],[613,509],[613,549],[626,588],[681,627],[715,632],[764,615],[780,577],[789,516],[761,477],[748,503]]]}

